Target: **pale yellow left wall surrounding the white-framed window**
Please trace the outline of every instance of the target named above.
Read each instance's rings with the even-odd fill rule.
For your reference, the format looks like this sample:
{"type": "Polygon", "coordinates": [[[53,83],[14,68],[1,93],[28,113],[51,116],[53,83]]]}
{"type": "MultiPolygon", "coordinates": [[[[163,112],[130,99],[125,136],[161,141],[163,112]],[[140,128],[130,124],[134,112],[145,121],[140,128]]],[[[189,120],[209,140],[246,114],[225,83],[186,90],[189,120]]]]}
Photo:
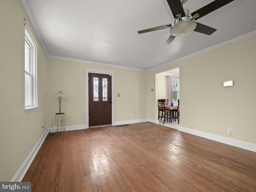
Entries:
{"type": "Polygon", "coordinates": [[[24,112],[24,18],[29,24],[18,0],[0,1],[0,181],[12,180],[42,136],[41,123],[46,123],[47,59],[42,48],[38,49],[40,109],[24,112]]]}

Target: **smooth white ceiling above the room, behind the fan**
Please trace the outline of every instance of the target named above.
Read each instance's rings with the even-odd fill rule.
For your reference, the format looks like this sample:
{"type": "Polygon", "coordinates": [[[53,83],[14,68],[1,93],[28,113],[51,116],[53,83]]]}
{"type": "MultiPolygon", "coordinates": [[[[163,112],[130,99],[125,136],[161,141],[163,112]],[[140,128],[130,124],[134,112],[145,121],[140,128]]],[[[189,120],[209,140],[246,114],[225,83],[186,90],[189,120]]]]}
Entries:
{"type": "MultiPolygon", "coordinates": [[[[213,0],[188,0],[190,13],[213,0]]],[[[191,32],[164,46],[169,30],[138,34],[174,22],[166,0],[20,0],[46,56],[150,70],[256,30],[256,0],[233,2],[197,22],[216,28],[191,32]]]]}

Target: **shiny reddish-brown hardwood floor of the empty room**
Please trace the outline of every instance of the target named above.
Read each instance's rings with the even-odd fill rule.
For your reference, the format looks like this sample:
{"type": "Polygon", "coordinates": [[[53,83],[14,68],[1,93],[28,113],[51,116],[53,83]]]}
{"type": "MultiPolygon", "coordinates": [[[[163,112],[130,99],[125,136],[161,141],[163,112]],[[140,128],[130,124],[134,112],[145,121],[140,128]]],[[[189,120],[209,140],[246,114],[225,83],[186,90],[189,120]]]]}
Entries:
{"type": "Polygon", "coordinates": [[[256,192],[256,153],[150,122],[46,139],[32,192],[256,192]]]}

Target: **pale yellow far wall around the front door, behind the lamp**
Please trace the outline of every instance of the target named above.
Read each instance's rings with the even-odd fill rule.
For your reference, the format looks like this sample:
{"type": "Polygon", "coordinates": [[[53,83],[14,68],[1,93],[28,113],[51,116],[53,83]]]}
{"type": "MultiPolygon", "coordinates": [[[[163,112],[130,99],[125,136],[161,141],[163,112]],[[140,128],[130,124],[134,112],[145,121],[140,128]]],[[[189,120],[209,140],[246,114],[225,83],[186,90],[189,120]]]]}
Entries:
{"type": "Polygon", "coordinates": [[[58,91],[68,96],[62,98],[66,126],[86,124],[86,68],[114,71],[115,122],[147,118],[146,72],[48,58],[47,127],[58,112],[58,98],[52,97],[58,91]]]}

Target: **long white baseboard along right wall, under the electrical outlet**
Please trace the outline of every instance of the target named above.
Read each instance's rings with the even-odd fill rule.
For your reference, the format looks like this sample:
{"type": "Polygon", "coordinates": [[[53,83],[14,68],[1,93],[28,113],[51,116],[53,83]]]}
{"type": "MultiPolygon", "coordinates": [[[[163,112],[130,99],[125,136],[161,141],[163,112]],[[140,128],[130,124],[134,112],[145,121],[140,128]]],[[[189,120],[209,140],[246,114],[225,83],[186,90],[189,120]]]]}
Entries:
{"type": "Polygon", "coordinates": [[[179,127],[178,129],[179,131],[182,132],[186,132],[189,134],[193,134],[196,136],[200,136],[200,137],[204,137],[210,140],[214,140],[214,141],[218,141],[221,143],[225,143],[228,145],[232,145],[235,147],[239,147],[242,149],[246,149],[246,150],[250,150],[253,152],[256,152],[256,145],[255,144],[251,144],[251,143],[247,143],[247,142],[243,142],[243,141],[239,141],[239,140],[234,140],[234,139],[230,139],[230,138],[226,138],[226,137],[222,137],[222,136],[218,136],[218,135],[214,135],[214,134],[209,134],[209,133],[205,133],[202,131],[197,131],[197,130],[193,130],[193,129],[189,129],[189,128],[184,128],[184,127],[179,127]]]}

